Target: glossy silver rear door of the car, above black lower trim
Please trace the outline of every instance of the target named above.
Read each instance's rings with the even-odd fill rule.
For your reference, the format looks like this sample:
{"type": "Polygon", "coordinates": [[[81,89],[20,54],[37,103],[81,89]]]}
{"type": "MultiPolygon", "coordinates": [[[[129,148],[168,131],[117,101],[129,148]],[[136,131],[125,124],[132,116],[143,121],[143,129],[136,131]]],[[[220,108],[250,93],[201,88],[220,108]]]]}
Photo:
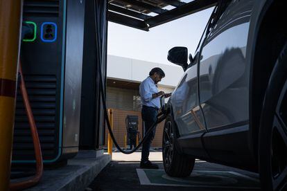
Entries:
{"type": "Polygon", "coordinates": [[[232,1],[203,44],[200,104],[207,129],[248,120],[245,60],[253,1],[232,1]]]}

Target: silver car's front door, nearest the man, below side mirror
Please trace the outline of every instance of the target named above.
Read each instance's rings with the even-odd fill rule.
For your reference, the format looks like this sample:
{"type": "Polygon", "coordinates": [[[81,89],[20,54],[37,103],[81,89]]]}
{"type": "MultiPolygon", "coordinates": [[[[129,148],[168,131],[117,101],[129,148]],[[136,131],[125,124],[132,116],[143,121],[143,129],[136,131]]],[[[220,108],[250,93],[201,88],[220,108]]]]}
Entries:
{"type": "Polygon", "coordinates": [[[206,32],[207,27],[202,34],[195,56],[170,99],[173,106],[173,118],[180,134],[180,138],[177,140],[181,148],[188,154],[202,158],[208,158],[208,155],[201,140],[206,128],[198,99],[198,57],[199,47],[206,32]]]}

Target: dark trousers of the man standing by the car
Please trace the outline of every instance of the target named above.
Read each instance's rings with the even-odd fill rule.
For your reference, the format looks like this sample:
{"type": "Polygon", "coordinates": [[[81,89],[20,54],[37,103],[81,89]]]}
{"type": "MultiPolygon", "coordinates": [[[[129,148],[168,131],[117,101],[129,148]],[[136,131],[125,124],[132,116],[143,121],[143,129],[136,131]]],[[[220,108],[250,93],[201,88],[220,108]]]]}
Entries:
{"type": "MultiPolygon", "coordinates": [[[[144,122],[145,133],[148,129],[152,128],[152,125],[157,121],[157,109],[154,107],[143,106],[141,109],[141,118],[144,122]]],[[[150,155],[150,144],[153,138],[155,138],[155,129],[148,134],[147,140],[143,143],[141,147],[141,161],[148,161],[148,156],[150,155]]]]}

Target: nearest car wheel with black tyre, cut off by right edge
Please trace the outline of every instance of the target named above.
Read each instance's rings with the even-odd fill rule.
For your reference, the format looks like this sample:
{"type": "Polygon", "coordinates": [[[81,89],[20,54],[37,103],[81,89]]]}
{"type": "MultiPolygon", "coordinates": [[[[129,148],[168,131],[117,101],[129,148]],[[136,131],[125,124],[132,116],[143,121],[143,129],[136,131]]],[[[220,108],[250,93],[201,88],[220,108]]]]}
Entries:
{"type": "Polygon", "coordinates": [[[263,190],[287,188],[287,44],[277,58],[263,102],[259,174],[263,190]]]}

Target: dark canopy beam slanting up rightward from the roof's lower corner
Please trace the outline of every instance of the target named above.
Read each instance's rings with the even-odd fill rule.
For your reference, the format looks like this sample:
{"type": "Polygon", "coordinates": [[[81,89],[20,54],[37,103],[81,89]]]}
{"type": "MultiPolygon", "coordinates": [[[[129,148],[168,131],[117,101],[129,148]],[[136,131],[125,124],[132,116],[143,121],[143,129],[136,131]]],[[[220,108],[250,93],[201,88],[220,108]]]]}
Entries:
{"type": "Polygon", "coordinates": [[[169,21],[199,12],[200,10],[211,8],[212,6],[215,6],[217,2],[218,0],[194,0],[190,3],[186,3],[184,6],[168,10],[160,15],[146,19],[146,22],[149,25],[148,28],[153,28],[160,24],[165,24],[169,21]]]}

